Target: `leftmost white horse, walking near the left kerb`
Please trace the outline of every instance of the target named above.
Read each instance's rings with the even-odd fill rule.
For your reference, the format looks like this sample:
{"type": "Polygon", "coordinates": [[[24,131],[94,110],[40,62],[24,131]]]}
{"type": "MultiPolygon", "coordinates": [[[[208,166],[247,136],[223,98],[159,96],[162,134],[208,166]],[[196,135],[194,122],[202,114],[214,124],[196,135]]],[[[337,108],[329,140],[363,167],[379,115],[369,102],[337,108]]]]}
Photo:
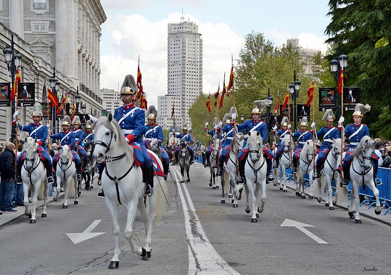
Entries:
{"type": "Polygon", "coordinates": [[[35,224],[36,208],[38,196],[43,197],[43,212],[41,217],[46,217],[46,198],[47,198],[47,178],[46,169],[39,157],[36,147],[37,138],[25,138],[23,145],[24,162],[22,166],[21,176],[23,182],[23,205],[24,214],[29,217],[30,224],[35,224]],[[28,190],[31,188],[31,205],[28,203],[28,190]]]}

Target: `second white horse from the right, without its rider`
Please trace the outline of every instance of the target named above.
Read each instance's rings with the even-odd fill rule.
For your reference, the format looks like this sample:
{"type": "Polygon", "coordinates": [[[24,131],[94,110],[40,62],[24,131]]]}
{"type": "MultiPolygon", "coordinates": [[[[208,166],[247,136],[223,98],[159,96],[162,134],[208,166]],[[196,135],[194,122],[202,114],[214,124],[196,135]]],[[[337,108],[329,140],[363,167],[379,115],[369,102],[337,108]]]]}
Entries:
{"type": "MultiPolygon", "coordinates": [[[[315,161],[318,159],[317,155],[315,161]]],[[[334,210],[334,202],[332,200],[333,189],[331,187],[331,182],[337,182],[336,174],[338,168],[338,158],[341,156],[341,138],[333,138],[333,144],[328,152],[326,160],[324,162],[323,168],[320,170],[321,179],[316,180],[312,185],[312,192],[318,196],[318,202],[322,202],[323,190],[326,189],[326,206],[330,210],[334,210]]]]}

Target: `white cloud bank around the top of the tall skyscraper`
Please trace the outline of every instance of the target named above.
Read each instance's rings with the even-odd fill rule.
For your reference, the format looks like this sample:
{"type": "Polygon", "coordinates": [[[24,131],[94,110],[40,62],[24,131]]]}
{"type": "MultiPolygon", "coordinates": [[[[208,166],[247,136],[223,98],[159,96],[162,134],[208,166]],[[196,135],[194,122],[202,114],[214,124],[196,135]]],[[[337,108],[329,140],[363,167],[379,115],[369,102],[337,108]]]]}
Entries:
{"type": "MultiPolygon", "coordinates": [[[[111,14],[102,25],[101,88],[117,89],[126,74],[136,76],[140,55],[143,87],[149,93],[149,104],[157,107],[157,96],[167,93],[168,23],[179,23],[180,17],[180,13],[172,13],[158,22],[150,22],[138,14],[111,14]]],[[[219,79],[222,86],[224,71],[228,82],[231,54],[238,58],[244,38],[226,23],[199,22],[189,14],[184,17],[198,25],[203,39],[203,91],[215,92],[219,79]]]]}

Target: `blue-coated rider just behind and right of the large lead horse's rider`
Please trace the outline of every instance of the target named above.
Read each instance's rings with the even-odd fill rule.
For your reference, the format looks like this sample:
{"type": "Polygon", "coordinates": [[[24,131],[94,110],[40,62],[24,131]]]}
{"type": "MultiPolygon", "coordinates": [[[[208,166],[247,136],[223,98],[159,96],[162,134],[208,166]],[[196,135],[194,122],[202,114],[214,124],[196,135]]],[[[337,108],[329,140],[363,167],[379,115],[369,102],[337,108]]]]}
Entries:
{"type": "Polygon", "coordinates": [[[170,159],[167,155],[166,150],[164,150],[163,145],[162,145],[162,142],[164,139],[163,128],[162,128],[162,126],[159,126],[156,123],[157,111],[156,111],[155,106],[151,105],[148,108],[147,115],[148,115],[148,124],[145,125],[144,137],[149,142],[147,142],[146,147],[149,149],[149,146],[152,142],[157,143],[157,147],[160,149],[161,157],[163,160],[162,162],[163,162],[164,174],[167,176],[168,172],[169,172],[169,167],[170,167],[170,159]]]}

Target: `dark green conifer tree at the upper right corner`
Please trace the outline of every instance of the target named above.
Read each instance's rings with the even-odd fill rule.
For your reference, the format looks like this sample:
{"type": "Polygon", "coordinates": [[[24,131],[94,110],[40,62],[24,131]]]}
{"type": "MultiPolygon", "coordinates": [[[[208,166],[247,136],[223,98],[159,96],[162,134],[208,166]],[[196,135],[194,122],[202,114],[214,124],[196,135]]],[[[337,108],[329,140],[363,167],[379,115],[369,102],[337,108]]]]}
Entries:
{"type": "MultiPolygon", "coordinates": [[[[391,138],[391,1],[329,0],[326,42],[339,42],[348,55],[346,86],[361,87],[360,101],[372,106],[364,116],[373,137],[391,138]]],[[[328,56],[331,60],[332,55],[328,56]]]]}

